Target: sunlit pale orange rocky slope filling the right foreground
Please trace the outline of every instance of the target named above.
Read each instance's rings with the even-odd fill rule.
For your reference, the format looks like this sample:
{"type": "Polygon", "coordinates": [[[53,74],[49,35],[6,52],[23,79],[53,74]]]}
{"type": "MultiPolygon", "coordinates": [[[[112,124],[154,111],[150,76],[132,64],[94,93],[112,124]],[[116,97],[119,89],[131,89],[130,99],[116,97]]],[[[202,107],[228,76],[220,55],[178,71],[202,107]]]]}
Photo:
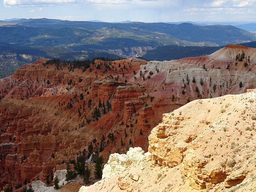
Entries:
{"type": "Polygon", "coordinates": [[[255,186],[255,99],[255,91],[200,99],[163,114],[149,136],[152,159],[137,161],[84,192],[250,191],[255,186]]]}

